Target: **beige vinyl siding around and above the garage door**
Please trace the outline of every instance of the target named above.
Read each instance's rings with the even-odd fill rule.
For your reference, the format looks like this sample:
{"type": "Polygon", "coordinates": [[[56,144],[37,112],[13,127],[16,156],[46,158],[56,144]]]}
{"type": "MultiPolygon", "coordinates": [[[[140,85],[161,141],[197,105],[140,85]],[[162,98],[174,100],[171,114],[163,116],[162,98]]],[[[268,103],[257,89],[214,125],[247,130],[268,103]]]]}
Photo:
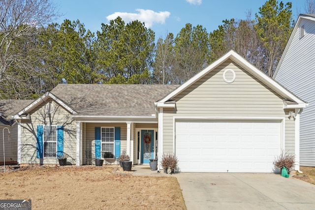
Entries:
{"type": "Polygon", "coordinates": [[[294,153],[294,120],[289,120],[284,113],[283,97],[232,60],[226,60],[174,98],[176,114],[173,110],[163,110],[164,152],[173,152],[174,117],[285,117],[285,149],[294,153]],[[227,68],[236,73],[236,79],[231,84],[225,83],[222,78],[227,68]],[[293,132],[290,132],[292,124],[293,132]]]}

